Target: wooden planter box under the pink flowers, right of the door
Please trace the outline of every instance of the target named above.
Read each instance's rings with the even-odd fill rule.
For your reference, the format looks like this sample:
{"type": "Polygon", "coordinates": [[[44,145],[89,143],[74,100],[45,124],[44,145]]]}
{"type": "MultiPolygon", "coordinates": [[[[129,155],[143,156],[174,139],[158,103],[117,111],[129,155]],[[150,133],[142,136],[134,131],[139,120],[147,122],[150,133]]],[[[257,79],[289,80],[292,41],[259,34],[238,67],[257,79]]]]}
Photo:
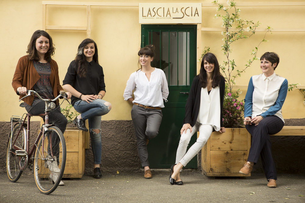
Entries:
{"type": "Polygon", "coordinates": [[[239,170],[247,161],[250,145],[251,135],[246,128],[213,132],[201,149],[202,172],[206,176],[245,176],[239,170]]]}

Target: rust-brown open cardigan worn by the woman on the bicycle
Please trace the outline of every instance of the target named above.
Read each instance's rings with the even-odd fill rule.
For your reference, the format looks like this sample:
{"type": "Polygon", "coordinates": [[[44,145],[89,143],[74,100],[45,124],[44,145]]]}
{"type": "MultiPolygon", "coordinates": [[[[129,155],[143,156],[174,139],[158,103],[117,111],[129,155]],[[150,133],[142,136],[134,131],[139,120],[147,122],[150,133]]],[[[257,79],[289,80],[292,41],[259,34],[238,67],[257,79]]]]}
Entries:
{"type": "MultiPolygon", "coordinates": [[[[59,75],[58,75],[58,65],[56,61],[51,59],[51,75],[50,82],[53,89],[54,97],[59,95],[59,91],[63,90],[62,86],[59,83],[59,75]]],[[[33,90],[33,86],[40,79],[40,75],[36,71],[33,65],[33,61],[27,59],[27,55],[23,56],[19,59],[18,64],[16,66],[16,70],[13,77],[12,86],[17,92],[18,87],[26,87],[27,89],[33,90]]],[[[21,99],[24,95],[20,95],[19,99],[21,99]]],[[[31,105],[34,100],[34,96],[28,96],[23,99],[25,103],[31,105]]],[[[58,103],[58,100],[56,101],[58,103]]]]}

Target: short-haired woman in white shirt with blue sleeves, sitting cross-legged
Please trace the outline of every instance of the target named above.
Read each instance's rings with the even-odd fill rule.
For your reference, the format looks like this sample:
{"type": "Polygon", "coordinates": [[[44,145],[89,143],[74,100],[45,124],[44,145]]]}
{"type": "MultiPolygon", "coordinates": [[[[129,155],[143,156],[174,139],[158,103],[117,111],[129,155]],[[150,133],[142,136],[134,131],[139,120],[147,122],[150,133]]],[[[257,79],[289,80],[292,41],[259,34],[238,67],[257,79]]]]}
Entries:
{"type": "Polygon", "coordinates": [[[248,175],[261,156],[269,181],[267,187],[276,187],[277,180],[269,135],[278,133],[284,126],[281,108],[288,89],[287,79],[274,72],[279,62],[278,54],[274,52],[266,52],[260,57],[263,73],[250,78],[245,97],[244,124],[252,135],[252,143],[248,160],[239,173],[248,175]]]}

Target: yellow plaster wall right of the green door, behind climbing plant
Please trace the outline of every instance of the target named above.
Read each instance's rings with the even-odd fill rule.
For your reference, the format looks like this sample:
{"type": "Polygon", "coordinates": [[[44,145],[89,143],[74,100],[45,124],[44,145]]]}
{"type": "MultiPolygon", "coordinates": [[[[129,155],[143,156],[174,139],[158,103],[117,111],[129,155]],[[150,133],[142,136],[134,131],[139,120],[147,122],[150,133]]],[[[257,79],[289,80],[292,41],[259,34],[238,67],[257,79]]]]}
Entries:
{"type": "MultiPolygon", "coordinates": [[[[251,1],[260,2],[260,1],[251,1]]],[[[285,1],[268,1],[268,2],[285,2],[285,1]]],[[[287,1],[288,2],[288,1],[287,1]]],[[[305,6],[255,6],[255,7],[238,7],[241,9],[240,16],[242,19],[259,21],[259,28],[305,28],[305,6]]],[[[215,7],[203,7],[202,27],[219,28],[222,24],[221,18],[211,18],[216,13],[215,7]],[[206,19],[206,20],[204,20],[206,19]]],[[[224,12],[220,12],[224,14],[224,12]]],[[[226,58],[221,51],[222,38],[221,32],[202,31],[201,47],[210,47],[210,52],[215,53],[221,64],[226,58]]],[[[264,32],[256,32],[249,39],[241,39],[230,48],[233,49],[231,60],[235,60],[237,69],[242,70],[247,64],[252,50],[258,46],[259,42],[264,38],[264,32]]],[[[280,63],[275,70],[275,73],[285,77],[288,84],[300,83],[305,84],[305,71],[303,68],[304,58],[304,32],[272,32],[266,34],[266,40],[259,46],[257,57],[267,51],[276,52],[280,57],[280,63]]],[[[236,85],[248,85],[252,75],[260,74],[260,61],[254,61],[253,64],[242,73],[242,77],[236,78],[236,85]]],[[[246,89],[241,89],[242,94],[240,99],[244,99],[246,89]]],[[[289,118],[304,118],[305,106],[303,104],[304,96],[295,89],[288,92],[285,103],[282,107],[283,117],[289,118]]]]}

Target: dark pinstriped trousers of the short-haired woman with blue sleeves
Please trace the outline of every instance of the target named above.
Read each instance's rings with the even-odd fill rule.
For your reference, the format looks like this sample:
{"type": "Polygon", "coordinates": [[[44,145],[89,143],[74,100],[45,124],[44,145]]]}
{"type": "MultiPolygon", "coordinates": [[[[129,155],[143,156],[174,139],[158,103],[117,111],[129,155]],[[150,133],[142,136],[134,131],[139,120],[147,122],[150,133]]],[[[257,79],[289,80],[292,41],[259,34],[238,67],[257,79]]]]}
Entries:
{"type": "Polygon", "coordinates": [[[254,124],[246,125],[247,131],[252,135],[248,161],[255,164],[260,156],[267,180],[277,180],[269,135],[278,133],[282,130],[283,126],[284,122],[277,116],[265,117],[257,126],[254,124]]]}

